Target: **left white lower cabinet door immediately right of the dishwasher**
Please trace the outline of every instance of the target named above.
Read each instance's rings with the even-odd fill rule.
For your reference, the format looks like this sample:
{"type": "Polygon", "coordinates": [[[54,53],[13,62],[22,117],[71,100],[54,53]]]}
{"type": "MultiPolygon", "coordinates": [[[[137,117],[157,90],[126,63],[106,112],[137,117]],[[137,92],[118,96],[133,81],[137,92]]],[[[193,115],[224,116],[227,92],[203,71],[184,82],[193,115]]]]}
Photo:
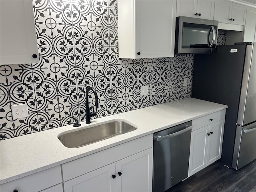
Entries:
{"type": "Polygon", "coordinates": [[[188,176],[206,167],[209,126],[191,132],[190,158],[188,176]]]}

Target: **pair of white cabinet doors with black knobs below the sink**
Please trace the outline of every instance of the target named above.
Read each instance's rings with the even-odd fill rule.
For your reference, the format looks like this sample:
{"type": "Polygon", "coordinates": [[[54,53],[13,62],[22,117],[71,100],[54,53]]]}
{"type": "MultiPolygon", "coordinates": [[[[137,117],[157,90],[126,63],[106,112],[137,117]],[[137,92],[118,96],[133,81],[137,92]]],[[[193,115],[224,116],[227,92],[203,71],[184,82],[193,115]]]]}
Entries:
{"type": "Polygon", "coordinates": [[[153,148],[64,182],[65,192],[152,191],[153,148]]]}

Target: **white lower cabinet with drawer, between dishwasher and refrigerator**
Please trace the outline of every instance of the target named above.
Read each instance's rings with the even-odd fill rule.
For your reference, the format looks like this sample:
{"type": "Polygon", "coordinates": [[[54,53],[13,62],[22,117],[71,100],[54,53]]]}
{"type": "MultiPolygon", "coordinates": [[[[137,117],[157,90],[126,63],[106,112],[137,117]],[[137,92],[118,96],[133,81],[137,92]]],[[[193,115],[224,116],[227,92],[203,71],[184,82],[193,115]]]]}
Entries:
{"type": "MultiPolygon", "coordinates": [[[[208,117],[212,119],[210,115],[208,115],[208,117]]],[[[218,118],[221,117],[223,116],[218,116],[218,118]]],[[[192,176],[221,158],[225,119],[219,120],[218,118],[218,121],[208,124],[207,126],[201,128],[193,127],[191,132],[188,176],[192,176]]],[[[202,117],[201,119],[203,121],[208,118],[202,117]]],[[[198,120],[200,120],[200,118],[198,118],[197,121],[198,120]]],[[[198,124],[198,122],[196,124],[198,124]]],[[[205,124],[205,122],[202,122],[202,124],[205,124]]]]}

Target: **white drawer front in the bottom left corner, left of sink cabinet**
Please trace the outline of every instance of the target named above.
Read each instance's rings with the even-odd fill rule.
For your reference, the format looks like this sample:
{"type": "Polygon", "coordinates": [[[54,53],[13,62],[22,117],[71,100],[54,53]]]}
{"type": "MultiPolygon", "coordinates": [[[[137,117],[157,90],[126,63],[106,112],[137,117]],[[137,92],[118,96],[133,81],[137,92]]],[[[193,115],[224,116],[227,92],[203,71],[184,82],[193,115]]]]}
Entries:
{"type": "Polygon", "coordinates": [[[0,186],[2,192],[38,192],[62,182],[60,165],[28,175],[26,177],[4,183],[0,186]]]}

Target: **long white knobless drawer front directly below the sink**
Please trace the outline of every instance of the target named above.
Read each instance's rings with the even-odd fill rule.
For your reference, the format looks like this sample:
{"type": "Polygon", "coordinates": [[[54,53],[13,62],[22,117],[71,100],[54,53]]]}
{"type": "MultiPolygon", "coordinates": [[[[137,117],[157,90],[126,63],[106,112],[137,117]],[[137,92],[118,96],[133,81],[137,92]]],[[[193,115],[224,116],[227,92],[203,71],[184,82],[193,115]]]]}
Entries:
{"type": "Polygon", "coordinates": [[[108,148],[62,164],[63,181],[67,181],[153,147],[153,134],[108,148]]]}

